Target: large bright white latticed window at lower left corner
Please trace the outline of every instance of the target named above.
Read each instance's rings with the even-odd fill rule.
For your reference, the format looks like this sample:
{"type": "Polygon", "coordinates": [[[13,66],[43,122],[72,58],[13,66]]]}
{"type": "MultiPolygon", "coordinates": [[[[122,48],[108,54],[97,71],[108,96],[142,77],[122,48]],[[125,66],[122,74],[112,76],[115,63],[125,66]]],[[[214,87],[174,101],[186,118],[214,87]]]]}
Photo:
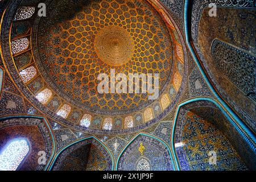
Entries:
{"type": "Polygon", "coordinates": [[[26,139],[13,139],[0,154],[0,170],[15,171],[28,154],[30,147],[26,139]]]}

